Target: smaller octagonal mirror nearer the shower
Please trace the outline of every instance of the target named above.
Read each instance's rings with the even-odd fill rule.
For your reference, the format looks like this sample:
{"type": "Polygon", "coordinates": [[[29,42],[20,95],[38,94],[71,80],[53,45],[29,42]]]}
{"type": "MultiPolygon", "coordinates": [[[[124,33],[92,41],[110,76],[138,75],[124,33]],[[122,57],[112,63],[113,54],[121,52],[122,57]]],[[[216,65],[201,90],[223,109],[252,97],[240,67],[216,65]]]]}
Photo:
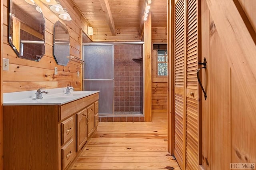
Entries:
{"type": "Polygon", "coordinates": [[[58,65],[66,66],[70,59],[70,37],[68,29],[60,21],[54,24],[54,58],[58,65]]]}

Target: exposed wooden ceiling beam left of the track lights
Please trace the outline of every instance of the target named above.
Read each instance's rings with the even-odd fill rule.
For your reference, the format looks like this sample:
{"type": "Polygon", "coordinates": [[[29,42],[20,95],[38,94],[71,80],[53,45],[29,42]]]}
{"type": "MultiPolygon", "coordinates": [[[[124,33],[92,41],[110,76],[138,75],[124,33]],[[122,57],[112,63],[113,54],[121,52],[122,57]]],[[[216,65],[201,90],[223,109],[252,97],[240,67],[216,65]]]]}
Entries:
{"type": "Polygon", "coordinates": [[[116,35],[116,27],[114,24],[114,20],[113,20],[113,16],[112,16],[112,13],[110,10],[108,0],[100,0],[100,5],[102,7],[104,14],[106,15],[107,23],[108,23],[108,26],[112,33],[112,36],[115,36],[116,35]]]}

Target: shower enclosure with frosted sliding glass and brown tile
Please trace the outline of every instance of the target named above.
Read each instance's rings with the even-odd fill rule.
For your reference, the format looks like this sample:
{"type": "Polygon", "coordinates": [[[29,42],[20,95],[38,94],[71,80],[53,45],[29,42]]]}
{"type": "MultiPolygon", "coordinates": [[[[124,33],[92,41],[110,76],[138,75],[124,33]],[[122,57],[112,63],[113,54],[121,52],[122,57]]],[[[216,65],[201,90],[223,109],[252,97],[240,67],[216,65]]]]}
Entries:
{"type": "Polygon", "coordinates": [[[84,90],[100,90],[100,115],[143,114],[143,44],[84,43],[84,90]]]}

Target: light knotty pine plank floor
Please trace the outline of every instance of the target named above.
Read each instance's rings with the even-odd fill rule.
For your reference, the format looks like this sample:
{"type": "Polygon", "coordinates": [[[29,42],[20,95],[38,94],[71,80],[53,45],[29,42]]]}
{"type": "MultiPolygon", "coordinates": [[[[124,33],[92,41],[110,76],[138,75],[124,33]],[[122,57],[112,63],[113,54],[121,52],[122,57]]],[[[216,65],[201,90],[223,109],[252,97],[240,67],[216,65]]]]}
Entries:
{"type": "Polygon", "coordinates": [[[167,142],[167,113],[152,122],[100,122],[71,170],[180,169],[167,142]]]}

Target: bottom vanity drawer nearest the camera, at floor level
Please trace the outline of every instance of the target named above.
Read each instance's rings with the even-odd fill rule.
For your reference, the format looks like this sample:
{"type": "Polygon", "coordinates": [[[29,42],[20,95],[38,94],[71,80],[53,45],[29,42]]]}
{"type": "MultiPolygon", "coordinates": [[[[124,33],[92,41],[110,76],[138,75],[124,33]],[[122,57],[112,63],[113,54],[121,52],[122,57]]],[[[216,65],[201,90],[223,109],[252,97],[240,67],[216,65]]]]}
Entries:
{"type": "Polygon", "coordinates": [[[61,149],[61,161],[62,169],[65,169],[68,164],[74,159],[76,152],[74,150],[74,142],[71,139],[63,148],[61,149]]]}

